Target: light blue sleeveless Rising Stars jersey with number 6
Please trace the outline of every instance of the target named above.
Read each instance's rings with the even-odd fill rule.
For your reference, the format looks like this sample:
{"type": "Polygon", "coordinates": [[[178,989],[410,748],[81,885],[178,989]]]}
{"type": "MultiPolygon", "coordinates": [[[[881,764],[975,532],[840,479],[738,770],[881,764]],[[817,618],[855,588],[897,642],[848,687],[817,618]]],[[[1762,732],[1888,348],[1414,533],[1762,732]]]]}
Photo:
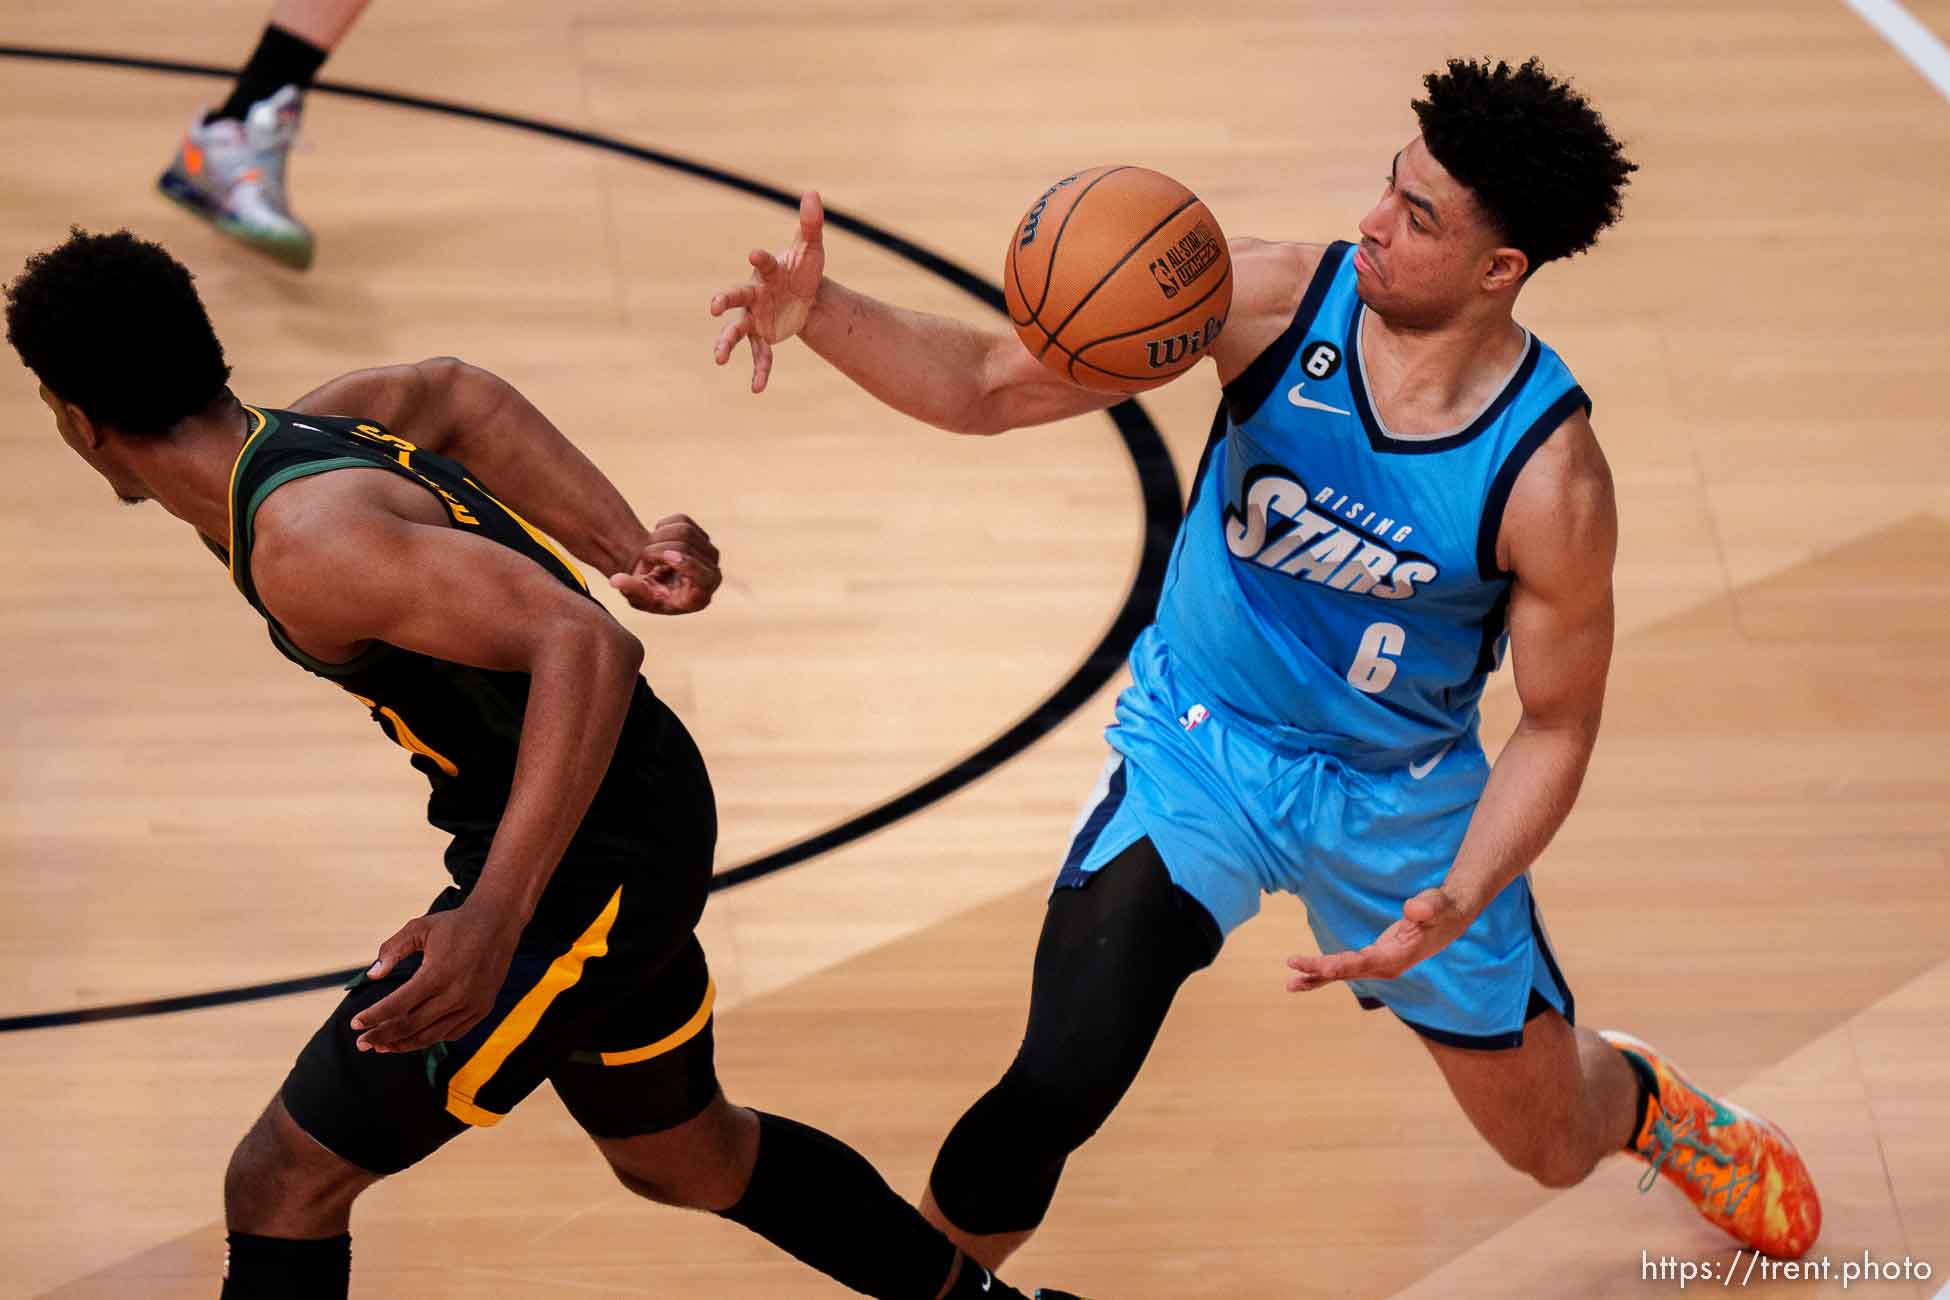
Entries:
{"type": "Polygon", "coordinates": [[[1503,505],[1589,401],[1531,337],[1466,427],[1396,437],[1363,382],[1365,316],[1336,244],[1293,325],[1227,386],[1147,635],[1209,709],[1373,768],[1474,731],[1505,641],[1503,505]]]}

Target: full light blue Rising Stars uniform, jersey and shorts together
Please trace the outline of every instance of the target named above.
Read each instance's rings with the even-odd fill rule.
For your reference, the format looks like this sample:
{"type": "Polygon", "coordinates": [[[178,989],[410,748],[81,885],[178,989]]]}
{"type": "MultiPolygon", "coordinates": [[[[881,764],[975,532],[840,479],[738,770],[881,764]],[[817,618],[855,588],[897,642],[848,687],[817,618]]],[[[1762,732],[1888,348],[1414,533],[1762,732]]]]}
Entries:
{"type": "MultiPolygon", "coordinates": [[[[1505,643],[1503,507],[1589,401],[1531,337],[1466,427],[1396,437],[1363,382],[1365,314],[1336,244],[1227,386],[1059,887],[1149,838],[1221,932],[1283,891],[1342,951],[1455,863],[1490,774],[1476,702],[1505,643]]],[[[1461,1047],[1513,1047],[1544,1008],[1574,1019],[1527,875],[1443,951],[1351,988],[1461,1047]]]]}

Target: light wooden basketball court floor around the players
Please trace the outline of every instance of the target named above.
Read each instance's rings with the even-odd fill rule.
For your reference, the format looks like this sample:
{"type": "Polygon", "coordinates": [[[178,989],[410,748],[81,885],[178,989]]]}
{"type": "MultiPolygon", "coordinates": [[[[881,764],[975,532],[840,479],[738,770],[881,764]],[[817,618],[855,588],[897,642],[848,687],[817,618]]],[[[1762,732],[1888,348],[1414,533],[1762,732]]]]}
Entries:
{"type": "MultiPolygon", "coordinates": [[[[1911,0],[1950,37],[1950,0],[1911,0]]],[[[238,60],[255,4],[16,4],[0,43],[238,60]]],[[[1234,234],[1340,238],[1453,53],[1576,74],[1644,172],[1523,318],[1597,398],[1620,643],[1578,813],[1537,867],[1593,1025],[1776,1117],[1817,1173],[1827,1282],[1864,1251],[1950,1281],[1950,103],[1839,2],[1190,12],[975,0],[733,10],[380,2],[328,78],[610,133],[796,189],[985,277],[1024,203],[1119,160],[1234,234]]],[[[0,275],[70,222],[197,273],[248,400],[380,361],[501,370],[644,513],[723,544],[702,618],[638,624],[698,733],[722,863],[840,822],[1030,711],[1125,600],[1143,515],[1102,417],[916,429],[786,351],[714,370],[704,300],[784,214],[476,121],[314,96],[294,277],[150,191],[216,82],[0,58],[0,275]]],[[[835,277],[979,318],[831,238],[835,277]]],[[[1190,474],[1213,384],[1145,407],[1190,474]]],[[[363,961],[439,887],[417,778],[281,663],[176,520],[123,511],[0,380],[0,1015],[363,961]]],[[[846,1136],[918,1193],[1022,1025],[1045,881],[1102,758],[1106,686],[891,828],[718,895],[733,1097],[846,1136]]],[[[1486,735],[1513,721],[1492,686],[1486,735]]],[[[1010,1269],[1104,1296],[1640,1296],[1732,1251],[1613,1162],[1505,1171],[1425,1052],[1338,990],[1269,900],[1188,988],[1010,1269]]],[[[0,1035],[0,1296],[209,1296],[228,1150],[326,1013],[314,992],[0,1035]]],[[[355,1296],[837,1294],[718,1220],[614,1187],[550,1095],[374,1189],[355,1296]]],[[[1689,1288],[1691,1290],[1691,1288],[1689,1288]]]]}

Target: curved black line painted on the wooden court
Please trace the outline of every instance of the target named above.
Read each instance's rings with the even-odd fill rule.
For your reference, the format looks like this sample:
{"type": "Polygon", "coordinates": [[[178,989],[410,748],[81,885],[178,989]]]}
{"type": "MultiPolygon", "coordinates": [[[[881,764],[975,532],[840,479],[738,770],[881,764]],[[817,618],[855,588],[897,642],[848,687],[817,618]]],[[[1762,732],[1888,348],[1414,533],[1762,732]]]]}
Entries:
{"type": "MultiPolygon", "coordinates": [[[[92,64],[101,68],[133,68],[140,72],[172,72],[179,76],[211,76],[211,78],[234,78],[236,68],[220,68],[216,64],[205,62],[176,62],[170,58],[138,58],[133,55],[103,55],[96,51],[68,51],[68,49],[39,49],[27,45],[0,45],[0,57],[4,58],[37,58],[43,62],[76,62],[92,64]]],[[[380,90],[374,86],[351,86],[345,82],[318,82],[312,86],[314,92],[343,96],[347,99],[369,99],[372,103],[390,103],[404,109],[419,109],[423,113],[445,113],[447,117],[466,117],[472,121],[491,123],[495,127],[511,127],[515,131],[526,131],[530,134],[550,136],[556,140],[567,140],[571,144],[585,144],[589,148],[606,150],[610,154],[622,154],[624,158],[636,158],[638,162],[647,162],[655,168],[665,168],[669,172],[679,172],[682,175],[692,175],[704,181],[714,181],[727,189],[774,203],[778,207],[798,210],[800,197],[778,185],[768,185],[764,181],[753,179],[749,175],[739,175],[737,172],[727,172],[723,168],[714,168],[706,162],[694,158],[682,158],[679,154],[669,154],[655,148],[645,148],[642,144],[632,144],[628,140],[618,140],[616,136],[603,134],[597,131],[581,131],[577,127],[564,127],[558,123],[540,121],[534,117],[519,117],[515,113],[499,113],[495,109],[482,109],[468,103],[452,103],[448,99],[427,99],[423,96],[406,96],[394,90],[380,90]]],[[[996,285],[981,279],[967,267],[961,267],[940,253],[926,249],[911,240],[905,240],[889,230],[874,226],[862,216],[850,212],[827,209],[827,224],[848,234],[860,236],[868,244],[876,244],[889,253],[905,257],[913,265],[938,275],[956,288],[967,292],[971,298],[983,306],[1000,312],[1004,318],[1008,308],[1004,306],[1002,290],[996,285]]],[[[959,758],[952,766],[936,772],[928,780],[920,782],[913,789],[907,789],[883,803],[878,803],[854,817],[848,817],[837,826],[829,826],[815,834],[805,836],[786,848],[764,854],[762,858],[753,858],[735,867],[725,867],[712,877],[712,891],[729,889],[733,885],[743,885],[755,881],[760,875],[770,875],[772,871],[782,871],[786,867],[798,865],[821,854],[829,854],[844,844],[852,844],[858,838],[883,830],[903,817],[913,817],[915,813],[926,809],[940,799],[956,793],[957,789],[971,785],[983,776],[994,772],[1004,762],[1024,752],[1039,739],[1049,735],[1063,719],[1080,709],[1090,696],[1094,696],[1106,682],[1110,682],[1117,670],[1123,667],[1123,659],[1137,641],[1137,633],[1143,631],[1145,624],[1150,622],[1150,614],[1156,608],[1158,593],[1164,585],[1164,567],[1172,552],[1172,536],[1178,532],[1178,518],[1182,513],[1178,470],[1172,466],[1172,456],[1164,446],[1164,439],[1158,437],[1158,427],[1150,421],[1150,415],[1133,400],[1123,401],[1108,411],[1112,423],[1117,427],[1123,439],[1125,450],[1131,454],[1131,464],[1137,470],[1139,493],[1145,507],[1145,544],[1137,563],[1137,577],[1131,581],[1131,591],[1123,598],[1123,606],[1117,610],[1117,618],[1112,620],[1110,630],[1096,643],[1096,647],[1084,657],[1084,661],[1065,678],[1041,704],[1030,709],[1026,715],[1016,719],[1006,731],[996,735],[993,741],[977,748],[975,752],[959,758]]],[[[0,1033],[14,1033],[20,1029],[51,1029],[57,1025],[88,1025],[105,1019],[133,1019],[138,1015],[168,1015],[172,1012],[197,1012],[213,1006],[228,1006],[232,1002],[257,1002],[261,998],[281,998],[285,994],[312,992],[318,988],[332,988],[353,978],[363,967],[347,967],[345,971],[326,971],[322,975],[304,975],[289,980],[273,980],[267,984],[244,984],[240,988],[216,988],[211,992],[179,994],[174,998],[152,998],[146,1002],[117,1002],[111,1006],[92,1006],[76,1008],[68,1012],[39,1012],[33,1015],[6,1015],[0,1017],[0,1033]]]]}

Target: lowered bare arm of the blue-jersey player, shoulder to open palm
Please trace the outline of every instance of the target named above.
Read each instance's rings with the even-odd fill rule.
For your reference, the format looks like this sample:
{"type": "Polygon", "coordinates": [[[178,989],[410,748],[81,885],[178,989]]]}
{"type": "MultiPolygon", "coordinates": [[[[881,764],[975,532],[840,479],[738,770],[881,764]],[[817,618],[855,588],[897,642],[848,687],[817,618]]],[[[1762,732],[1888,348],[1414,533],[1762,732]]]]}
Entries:
{"type": "Polygon", "coordinates": [[[1287,988],[1394,978],[1441,951],[1531,867],[1578,799],[1611,670],[1618,509],[1591,421],[1572,415],[1511,489],[1498,563],[1515,575],[1509,651],[1523,715],[1496,760],[1447,879],[1369,947],[1293,957],[1287,988]]]}

